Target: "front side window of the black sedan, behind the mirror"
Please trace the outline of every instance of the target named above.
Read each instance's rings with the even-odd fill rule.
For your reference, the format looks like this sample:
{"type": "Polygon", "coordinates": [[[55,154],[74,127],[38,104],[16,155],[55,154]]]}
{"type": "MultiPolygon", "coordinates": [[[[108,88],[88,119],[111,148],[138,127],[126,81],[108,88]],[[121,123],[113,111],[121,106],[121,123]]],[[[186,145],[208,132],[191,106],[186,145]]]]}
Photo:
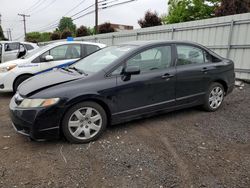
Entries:
{"type": "Polygon", "coordinates": [[[171,46],[143,51],[127,61],[127,66],[139,66],[141,72],[165,69],[171,65],[171,46]]]}

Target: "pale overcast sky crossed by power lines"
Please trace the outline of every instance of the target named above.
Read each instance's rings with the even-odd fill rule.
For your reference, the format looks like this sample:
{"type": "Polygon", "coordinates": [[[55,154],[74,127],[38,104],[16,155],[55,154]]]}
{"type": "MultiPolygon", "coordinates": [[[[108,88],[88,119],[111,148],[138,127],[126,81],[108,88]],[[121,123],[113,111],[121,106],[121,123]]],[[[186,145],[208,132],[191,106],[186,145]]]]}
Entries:
{"type": "MultiPolygon", "coordinates": [[[[99,0],[102,1],[102,0],[99,0]]],[[[107,0],[111,4],[127,0],[107,0]]],[[[23,40],[24,29],[22,17],[18,13],[30,15],[27,17],[27,32],[53,31],[62,16],[73,16],[81,10],[93,5],[95,0],[0,0],[0,14],[2,15],[3,30],[11,29],[13,40],[23,40]],[[73,9],[73,10],[72,10],[73,9]]],[[[94,10],[94,7],[74,16],[84,15],[94,10]]],[[[99,23],[110,22],[132,25],[140,28],[138,19],[147,10],[157,11],[159,15],[167,13],[167,0],[136,0],[124,5],[99,10],[99,23]]],[[[95,15],[91,13],[74,21],[79,27],[85,25],[93,27],[95,15]]],[[[7,36],[7,33],[5,33],[7,36]]]]}

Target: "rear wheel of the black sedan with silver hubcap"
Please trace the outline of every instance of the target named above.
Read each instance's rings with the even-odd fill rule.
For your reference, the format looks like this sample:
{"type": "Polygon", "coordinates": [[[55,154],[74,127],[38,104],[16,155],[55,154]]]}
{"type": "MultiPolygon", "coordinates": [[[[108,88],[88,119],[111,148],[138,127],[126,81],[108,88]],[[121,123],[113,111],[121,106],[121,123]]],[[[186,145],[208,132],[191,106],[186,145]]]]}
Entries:
{"type": "Polygon", "coordinates": [[[212,83],[205,95],[205,103],[203,108],[208,112],[214,112],[218,110],[222,105],[224,95],[224,87],[220,83],[212,83]]]}

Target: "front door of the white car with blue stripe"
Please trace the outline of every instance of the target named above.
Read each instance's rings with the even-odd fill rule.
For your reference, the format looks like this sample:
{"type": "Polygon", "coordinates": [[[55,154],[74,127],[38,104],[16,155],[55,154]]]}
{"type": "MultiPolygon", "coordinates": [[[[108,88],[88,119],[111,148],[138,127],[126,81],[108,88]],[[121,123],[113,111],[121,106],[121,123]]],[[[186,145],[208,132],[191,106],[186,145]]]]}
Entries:
{"type": "Polygon", "coordinates": [[[40,73],[43,73],[54,68],[71,65],[81,57],[81,53],[82,50],[80,44],[65,44],[54,47],[43,53],[35,60],[35,62],[39,62],[40,73]],[[48,55],[52,56],[53,60],[47,61],[46,56],[48,55]]]}

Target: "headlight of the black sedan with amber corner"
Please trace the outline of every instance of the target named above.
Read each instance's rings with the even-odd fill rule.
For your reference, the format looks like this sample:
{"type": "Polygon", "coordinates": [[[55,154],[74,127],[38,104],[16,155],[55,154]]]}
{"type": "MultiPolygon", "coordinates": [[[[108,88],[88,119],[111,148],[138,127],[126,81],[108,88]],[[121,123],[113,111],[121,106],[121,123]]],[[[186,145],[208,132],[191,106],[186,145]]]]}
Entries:
{"type": "Polygon", "coordinates": [[[19,107],[21,108],[36,108],[36,107],[47,107],[56,104],[59,98],[52,99],[24,99],[19,107]]]}

